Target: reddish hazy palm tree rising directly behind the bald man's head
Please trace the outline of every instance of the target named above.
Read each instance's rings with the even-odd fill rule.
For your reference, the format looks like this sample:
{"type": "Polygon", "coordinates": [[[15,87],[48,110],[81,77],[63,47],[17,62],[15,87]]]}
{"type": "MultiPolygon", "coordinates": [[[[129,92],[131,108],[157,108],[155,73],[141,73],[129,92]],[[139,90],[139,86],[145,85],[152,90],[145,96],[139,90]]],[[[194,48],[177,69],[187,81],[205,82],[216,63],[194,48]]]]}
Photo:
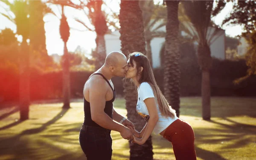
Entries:
{"type": "Polygon", "coordinates": [[[102,11],[102,0],[89,0],[87,4],[82,3],[84,6],[84,13],[89,18],[94,29],[89,27],[83,20],[75,18],[75,20],[81,23],[89,31],[96,32],[96,52],[95,52],[95,69],[98,70],[105,63],[106,58],[106,44],[104,35],[108,32],[107,21],[105,13],[102,11]],[[86,10],[89,9],[89,12],[86,10]]]}

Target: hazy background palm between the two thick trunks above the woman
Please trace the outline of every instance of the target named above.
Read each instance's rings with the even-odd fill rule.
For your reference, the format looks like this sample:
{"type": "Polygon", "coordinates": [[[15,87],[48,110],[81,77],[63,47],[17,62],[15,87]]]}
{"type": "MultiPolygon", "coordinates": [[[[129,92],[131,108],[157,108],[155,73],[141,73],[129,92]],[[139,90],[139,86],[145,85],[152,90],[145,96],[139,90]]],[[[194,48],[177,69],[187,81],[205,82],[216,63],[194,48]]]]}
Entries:
{"type": "Polygon", "coordinates": [[[155,5],[154,1],[151,0],[142,0],[139,4],[143,15],[147,57],[152,66],[151,41],[153,38],[166,36],[165,31],[159,30],[161,27],[166,26],[166,9],[160,4],[155,5]]]}

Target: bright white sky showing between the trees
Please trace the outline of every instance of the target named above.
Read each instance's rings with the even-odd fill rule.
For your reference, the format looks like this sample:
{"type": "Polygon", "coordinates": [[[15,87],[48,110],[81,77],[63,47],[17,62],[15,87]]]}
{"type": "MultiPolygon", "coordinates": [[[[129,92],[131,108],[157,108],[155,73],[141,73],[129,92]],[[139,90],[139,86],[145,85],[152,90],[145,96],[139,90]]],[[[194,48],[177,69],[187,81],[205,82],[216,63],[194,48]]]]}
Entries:
{"type": "MultiPolygon", "coordinates": [[[[74,3],[77,0],[73,0],[74,3]]],[[[160,1],[160,0],[155,0],[160,1]]],[[[119,13],[119,3],[120,0],[106,0],[106,3],[108,7],[110,7],[114,12],[119,13]],[[111,3],[111,5],[110,5],[111,3]]],[[[49,55],[52,54],[58,54],[63,55],[63,49],[64,49],[64,43],[61,40],[61,36],[59,33],[59,25],[60,25],[60,17],[61,12],[59,12],[60,8],[58,8],[55,5],[49,6],[58,17],[55,15],[46,15],[44,16],[44,29],[45,29],[45,35],[46,35],[46,45],[47,45],[47,51],[49,55]]],[[[106,12],[110,12],[110,9],[106,6],[102,6],[102,9],[105,9],[106,12]]],[[[228,3],[225,8],[222,10],[220,14],[218,14],[215,18],[212,20],[217,24],[220,25],[221,22],[224,20],[224,17],[226,17],[230,11],[232,10],[232,3],[228,3]]],[[[4,12],[4,10],[0,9],[0,12],[4,12]]],[[[78,46],[81,46],[85,52],[90,54],[91,49],[94,49],[96,47],[95,38],[96,33],[92,31],[86,31],[85,27],[79,24],[74,20],[74,17],[78,17],[81,20],[84,20],[88,25],[93,29],[93,26],[90,25],[89,20],[84,15],[84,12],[73,9],[71,7],[65,7],[64,13],[67,16],[67,21],[70,25],[70,38],[67,42],[67,49],[69,52],[75,51],[75,49],[78,46]],[[77,30],[78,29],[78,30],[77,30]]],[[[16,32],[16,25],[12,22],[10,22],[6,17],[3,17],[0,15],[0,30],[10,28],[14,32],[16,32]]],[[[226,35],[230,37],[235,37],[237,35],[241,35],[242,28],[241,26],[223,26],[222,27],[226,35]]],[[[18,36],[18,40],[22,41],[22,36],[18,36]]]]}

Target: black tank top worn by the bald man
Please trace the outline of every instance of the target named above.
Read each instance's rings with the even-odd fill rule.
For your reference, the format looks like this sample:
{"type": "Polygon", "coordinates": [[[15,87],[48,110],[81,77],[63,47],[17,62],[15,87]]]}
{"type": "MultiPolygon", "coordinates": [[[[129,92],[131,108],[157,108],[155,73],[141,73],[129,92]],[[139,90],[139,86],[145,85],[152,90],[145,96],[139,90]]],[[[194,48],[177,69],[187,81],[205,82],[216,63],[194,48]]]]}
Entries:
{"type": "MultiPolygon", "coordinates": [[[[91,76],[93,76],[93,75],[100,75],[100,76],[102,76],[108,82],[109,86],[111,87],[111,84],[109,83],[108,79],[106,79],[101,73],[93,73],[91,76]]],[[[90,79],[90,77],[88,79],[90,79]]],[[[106,101],[104,112],[111,119],[113,119],[113,102],[114,102],[114,100],[116,98],[116,90],[115,89],[113,90],[112,87],[111,87],[111,89],[113,91],[113,99],[111,99],[110,101],[106,101]]],[[[84,98],[84,123],[83,123],[83,125],[88,125],[88,126],[102,128],[100,125],[98,125],[96,122],[94,122],[92,120],[91,113],[90,113],[90,102],[87,102],[85,100],[85,98],[84,98]]]]}

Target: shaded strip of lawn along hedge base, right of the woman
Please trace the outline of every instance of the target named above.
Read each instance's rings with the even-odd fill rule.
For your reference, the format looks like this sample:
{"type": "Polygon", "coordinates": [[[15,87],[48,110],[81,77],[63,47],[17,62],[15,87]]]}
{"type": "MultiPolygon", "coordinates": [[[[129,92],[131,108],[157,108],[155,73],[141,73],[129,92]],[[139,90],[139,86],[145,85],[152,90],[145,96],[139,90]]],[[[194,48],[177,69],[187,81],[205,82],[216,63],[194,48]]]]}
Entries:
{"type": "MultiPolygon", "coordinates": [[[[250,116],[256,118],[254,104],[256,98],[242,97],[211,97],[211,116],[230,117],[230,116],[250,116]]],[[[201,98],[181,98],[180,114],[185,116],[201,117],[202,115],[201,98]]]]}

